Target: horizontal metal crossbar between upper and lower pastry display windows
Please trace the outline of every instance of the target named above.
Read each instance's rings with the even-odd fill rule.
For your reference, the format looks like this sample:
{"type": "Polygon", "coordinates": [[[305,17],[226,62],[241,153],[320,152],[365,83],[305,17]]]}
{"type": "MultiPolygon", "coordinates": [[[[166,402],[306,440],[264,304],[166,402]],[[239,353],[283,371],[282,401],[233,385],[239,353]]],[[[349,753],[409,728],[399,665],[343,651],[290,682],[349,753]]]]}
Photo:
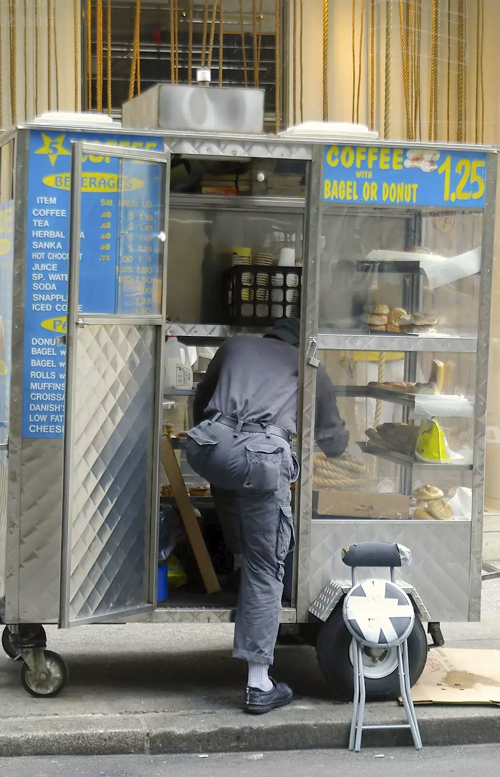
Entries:
{"type": "Polygon", "coordinates": [[[477,337],[447,335],[396,335],[318,333],[320,350],[420,351],[450,354],[475,354],[477,337]]]}

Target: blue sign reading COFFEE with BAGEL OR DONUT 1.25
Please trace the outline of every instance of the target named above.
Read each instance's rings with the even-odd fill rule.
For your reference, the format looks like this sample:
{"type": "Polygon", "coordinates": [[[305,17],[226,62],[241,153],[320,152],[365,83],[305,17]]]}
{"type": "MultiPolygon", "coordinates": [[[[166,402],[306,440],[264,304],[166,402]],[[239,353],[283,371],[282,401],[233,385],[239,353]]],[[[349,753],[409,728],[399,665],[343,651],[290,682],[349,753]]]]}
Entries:
{"type": "Polygon", "coordinates": [[[345,205],[483,208],[486,154],[437,148],[325,148],[323,200],[345,205]]]}

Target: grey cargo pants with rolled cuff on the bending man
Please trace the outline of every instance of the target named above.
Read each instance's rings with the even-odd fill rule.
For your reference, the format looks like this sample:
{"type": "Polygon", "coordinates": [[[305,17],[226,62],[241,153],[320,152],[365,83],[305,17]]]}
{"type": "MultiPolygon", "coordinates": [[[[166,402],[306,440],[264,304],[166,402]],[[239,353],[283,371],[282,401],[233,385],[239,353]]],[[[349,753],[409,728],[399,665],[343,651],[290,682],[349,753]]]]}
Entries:
{"type": "Polygon", "coordinates": [[[297,459],[269,430],[247,434],[210,420],[189,431],[186,458],[212,486],[228,549],[241,553],[233,657],[273,664],[284,563],[295,544],[290,483],[297,459]]]}

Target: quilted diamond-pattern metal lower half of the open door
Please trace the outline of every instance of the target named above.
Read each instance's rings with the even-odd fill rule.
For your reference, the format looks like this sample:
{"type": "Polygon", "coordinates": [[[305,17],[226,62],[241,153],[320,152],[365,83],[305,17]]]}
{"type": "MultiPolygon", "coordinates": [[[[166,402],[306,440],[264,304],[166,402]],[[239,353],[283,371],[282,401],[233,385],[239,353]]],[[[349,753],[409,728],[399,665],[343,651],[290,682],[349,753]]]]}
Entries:
{"type": "Polygon", "coordinates": [[[71,621],[148,603],[154,326],[77,329],[71,621]]]}

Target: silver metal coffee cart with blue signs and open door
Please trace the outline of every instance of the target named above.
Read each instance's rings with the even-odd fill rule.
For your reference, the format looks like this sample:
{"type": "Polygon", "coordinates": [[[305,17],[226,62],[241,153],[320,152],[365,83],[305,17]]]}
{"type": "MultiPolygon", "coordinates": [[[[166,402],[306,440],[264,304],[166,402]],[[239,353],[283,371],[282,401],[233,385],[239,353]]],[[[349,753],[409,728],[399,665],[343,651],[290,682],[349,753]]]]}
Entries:
{"type": "MultiPolygon", "coordinates": [[[[48,696],[68,673],[45,624],[231,622],[207,484],[183,453],[194,389],[164,392],[163,345],[193,354],[196,384],[224,338],[300,306],[281,622],[349,688],[341,549],[407,545],[415,682],[425,626],[437,642],[439,622],[480,617],[496,151],[172,130],[160,113],[155,88],[123,127],[47,118],[0,139],[2,645],[48,696]],[[260,266],[231,267],[241,247],[260,266]],[[349,429],[339,460],[314,444],[318,361],[349,429]],[[158,602],[162,549],[175,563],[158,602]]],[[[394,696],[397,658],[365,659],[369,695],[394,696]]]]}

